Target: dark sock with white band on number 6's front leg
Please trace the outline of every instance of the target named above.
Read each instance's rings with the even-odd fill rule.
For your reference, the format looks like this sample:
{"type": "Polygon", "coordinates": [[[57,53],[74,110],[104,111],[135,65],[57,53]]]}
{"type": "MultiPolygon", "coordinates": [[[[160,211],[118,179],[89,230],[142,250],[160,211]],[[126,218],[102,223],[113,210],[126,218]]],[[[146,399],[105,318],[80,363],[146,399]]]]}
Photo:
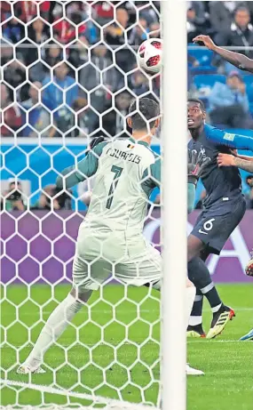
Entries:
{"type": "Polygon", "coordinates": [[[195,257],[188,262],[188,277],[194,283],[197,289],[202,291],[210,302],[212,311],[217,311],[222,305],[217,289],[213,284],[210,271],[201,258],[195,257]]]}

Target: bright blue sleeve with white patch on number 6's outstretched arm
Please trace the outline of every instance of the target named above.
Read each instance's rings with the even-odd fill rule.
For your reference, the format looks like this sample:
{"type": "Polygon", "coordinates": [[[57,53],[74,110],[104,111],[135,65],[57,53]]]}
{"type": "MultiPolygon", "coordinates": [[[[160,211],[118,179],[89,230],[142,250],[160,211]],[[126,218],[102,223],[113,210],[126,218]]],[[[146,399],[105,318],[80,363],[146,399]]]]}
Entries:
{"type": "Polygon", "coordinates": [[[225,131],[218,130],[207,124],[204,125],[204,131],[207,138],[213,142],[217,142],[217,144],[226,145],[233,149],[253,150],[253,133],[251,137],[236,133],[225,133],[225,131]]]}

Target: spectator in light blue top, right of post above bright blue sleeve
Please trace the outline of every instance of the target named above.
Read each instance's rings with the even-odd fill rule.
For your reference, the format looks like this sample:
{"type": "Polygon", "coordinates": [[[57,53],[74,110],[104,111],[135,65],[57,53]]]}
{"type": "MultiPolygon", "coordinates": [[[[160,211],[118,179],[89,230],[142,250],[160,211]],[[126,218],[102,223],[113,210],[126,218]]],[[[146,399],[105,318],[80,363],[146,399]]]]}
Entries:
{"type": "Polygon", "coordinates": [[[209,102],[213,124],[231,128],[248,128],[252,125],[245,83],[237,71],[232,71],[227,76],[226,84],[214,85],[209,102]]]}

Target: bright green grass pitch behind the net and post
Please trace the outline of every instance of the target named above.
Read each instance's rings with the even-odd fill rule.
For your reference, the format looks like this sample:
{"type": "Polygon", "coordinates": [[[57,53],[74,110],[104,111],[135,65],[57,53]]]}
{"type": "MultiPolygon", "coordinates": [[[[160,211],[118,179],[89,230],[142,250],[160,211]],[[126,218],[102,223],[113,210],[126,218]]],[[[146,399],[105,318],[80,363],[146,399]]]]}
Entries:
{"type": "MultiPolygon", "coordinates": [[[[1,306],[2,378],[28,382],[27,375],[15,373],[17,363],[27,357],[30,342],[36,341],[43,326],[40,311],[43,320],[48,318],[68,290],[68,285],[58,285],[51,293],[50,286],[34,285],[30,291],[33,301],[29,301],[26,286],[6,288],[9,301],[3,301],[1,306]],[[15,306],[19,308],[16,310],[15,306]],[[23,325],[16,320],[18,312],[23,325]],[[5,334],[4,328],[7,329],[5,334]]],[[[253,286],[219,285],[218,290],[223,300],[236,310],[236,318],[216,340],[188,342],[188,361],[204,370],[206,375],[188,377],[187,410],[252,410],[253,342],[238,342],[238,339],[253,325],[253,286]]],[[[159,294],[153,291],[150,297],[148,292],[146,288],[131,287],[128,301],[123,301],[124,290],[120,285],[108,285],[100,293],[93,293],[91,309],[83,308],[73,322],[79,326],[79,342],[76,342],[75,326],[69,326],[59,344],[45,355],[47,366],[59,368],[56,378],[53,379],[48,368],[46,374],[32,375],[31,382],[52,384],[76,392],[90,393],[93,390],[97,395],[110,398],[119,398],[117,388],[124,400],[143,402],[139,386],[143,388],[146,402],[155,404],[159,380],[159,294]],[[104,301],[99,301],[99,295],[104,301]],[[140,302],[139,310],[137,302],[140,302]],[[113,316],[113,305],[116,305],[118,322],[113,316]],[[125,325],[128,325],[127,333],[125,325]],[[104,342],[101,343],[101,339],[104,342]],[[115,350],[113,347],[116,346],[115,350]],[[68,364],[64,348],[67,348],[68,364]],[[129,373],[127,369],[130,369],[129,373]],[[108,385],[103,383],[103,371],[108,385]]],[[[205,303],[206,330],[209,324],[210,310],[205,303]]],[[[67,403],[67,399],[59,395],[44,393],[43,397],[44,403],[67,403]]],[[[71,401],[89,404],[82,399],[71,401]]],[[[15,403],[39,405],[42,393],[3,387],[1,406],[14,406],[15,403]]]]}

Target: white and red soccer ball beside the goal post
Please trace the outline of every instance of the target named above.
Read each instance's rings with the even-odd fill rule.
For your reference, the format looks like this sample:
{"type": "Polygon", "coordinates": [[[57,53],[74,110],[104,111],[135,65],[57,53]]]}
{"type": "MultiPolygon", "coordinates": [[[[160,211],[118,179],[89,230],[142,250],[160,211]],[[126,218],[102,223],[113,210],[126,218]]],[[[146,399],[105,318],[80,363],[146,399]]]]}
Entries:
{"type": "Polygon", "coordinates": [[[147,74],[157,74],[162,68],[162,40],[149,38],[138,47],[138,67],[147,74]]]}

